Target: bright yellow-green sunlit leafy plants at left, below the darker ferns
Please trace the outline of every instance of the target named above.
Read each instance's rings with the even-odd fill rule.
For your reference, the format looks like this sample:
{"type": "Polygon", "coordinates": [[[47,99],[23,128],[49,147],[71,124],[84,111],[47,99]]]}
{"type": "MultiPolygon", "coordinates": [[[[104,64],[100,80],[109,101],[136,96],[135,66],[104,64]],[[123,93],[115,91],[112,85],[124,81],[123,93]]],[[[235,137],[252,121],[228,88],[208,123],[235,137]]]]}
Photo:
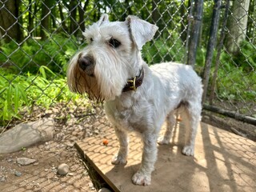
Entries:
{"type": "MultiPolygon", "coordinates": [[[[58,77],[46,66],[41,66],[39,74],[15,75],[0,68],[0,125],[5,125],[12,118],[21,118],[19,111],[26,106],[49,107],[55,102],[75,100],[78,95],[70,93],[66,78],[58,77]],[[54,75],[54,80],[49,80],[54,75]]],[[[32,111],[31,111],[32,112],[32,111]]]]}

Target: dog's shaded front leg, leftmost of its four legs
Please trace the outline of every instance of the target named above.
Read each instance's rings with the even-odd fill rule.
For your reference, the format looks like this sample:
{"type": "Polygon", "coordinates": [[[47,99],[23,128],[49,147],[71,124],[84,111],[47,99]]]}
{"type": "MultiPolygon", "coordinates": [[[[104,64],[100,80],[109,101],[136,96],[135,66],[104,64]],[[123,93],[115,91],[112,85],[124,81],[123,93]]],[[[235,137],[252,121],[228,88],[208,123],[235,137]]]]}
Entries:
{"type": "Polygon", "coordinates": [[[118,154],[114,155],[112,159],[112,164],[126,164],[127,163],[127,154],[128,154],[128,134],[124,130],[120,130],[117,127],[114,127],[115,134],[118,137],[119,141],[119,150],[118,154]]]}

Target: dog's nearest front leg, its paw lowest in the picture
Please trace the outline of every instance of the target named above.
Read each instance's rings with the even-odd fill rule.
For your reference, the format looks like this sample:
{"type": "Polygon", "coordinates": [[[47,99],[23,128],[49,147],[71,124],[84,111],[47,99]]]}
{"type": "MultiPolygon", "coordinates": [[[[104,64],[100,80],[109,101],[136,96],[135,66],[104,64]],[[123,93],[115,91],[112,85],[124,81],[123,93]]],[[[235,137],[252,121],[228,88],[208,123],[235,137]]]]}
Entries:
{"type": "Polygon", "coordinates": [[[143,135],[143,153],[140,169],[134,174],[132,181],[135,185],[148,186],[151,182],[151,173],[154,170],[154,162],[157,160],[157,135],[146,133],[143,135]]]}

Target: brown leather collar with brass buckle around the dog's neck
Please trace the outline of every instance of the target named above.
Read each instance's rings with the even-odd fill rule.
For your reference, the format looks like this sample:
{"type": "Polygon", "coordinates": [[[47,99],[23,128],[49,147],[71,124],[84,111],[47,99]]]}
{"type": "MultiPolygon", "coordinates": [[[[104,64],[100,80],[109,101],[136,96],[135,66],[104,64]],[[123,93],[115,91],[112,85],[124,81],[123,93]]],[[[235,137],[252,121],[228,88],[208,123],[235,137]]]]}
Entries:
{"type": "Polygon", "coordinates": [[[134,78],[129,78],[126,82],[126,86],[122,89],[122,92],[126,92],[129,90],[137,90],[138,86],[142,85],[144,78],[144,70],[143,68],[140,70],[138,76],[134,78]]]}

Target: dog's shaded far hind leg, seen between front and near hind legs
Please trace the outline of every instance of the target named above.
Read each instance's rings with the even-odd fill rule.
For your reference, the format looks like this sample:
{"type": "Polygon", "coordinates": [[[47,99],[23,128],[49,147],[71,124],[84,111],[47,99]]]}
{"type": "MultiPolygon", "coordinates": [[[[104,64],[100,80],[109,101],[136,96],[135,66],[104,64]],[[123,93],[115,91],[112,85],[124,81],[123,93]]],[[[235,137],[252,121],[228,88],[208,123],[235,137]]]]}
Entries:
{"type": "Polygon", "coordinates": [[[166,117],[166,132],[164,134],[164,136],[161,136],[158,138],[158,144],[162,145],[162,144],[168,144],[170,142],[170,138],[173,132],[173,128],[176,122],[175,116],[174,116],[174,112],[171,112],[170,114],[167,115],[166,117]]]}

